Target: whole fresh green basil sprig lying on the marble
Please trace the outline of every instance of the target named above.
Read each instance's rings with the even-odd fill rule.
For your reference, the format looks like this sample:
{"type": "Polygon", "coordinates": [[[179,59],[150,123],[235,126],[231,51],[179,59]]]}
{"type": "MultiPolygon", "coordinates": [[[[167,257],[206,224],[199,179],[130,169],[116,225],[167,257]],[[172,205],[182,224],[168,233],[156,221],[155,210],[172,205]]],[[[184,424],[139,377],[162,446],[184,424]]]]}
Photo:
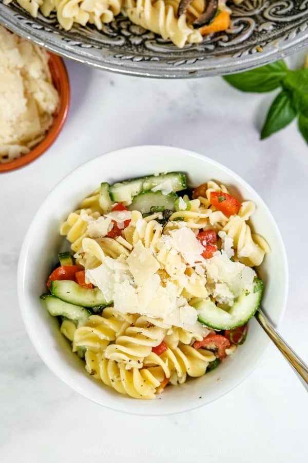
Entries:
{"type": "Polygon", "coordinates": [[[268,109],[260,138],[286,127],[297,117],[298,128],[308,143],[308,68],[288,69],[279,60],[243,73],[223,76],[224,80],[242,92],[280,92],[268,109]]]}

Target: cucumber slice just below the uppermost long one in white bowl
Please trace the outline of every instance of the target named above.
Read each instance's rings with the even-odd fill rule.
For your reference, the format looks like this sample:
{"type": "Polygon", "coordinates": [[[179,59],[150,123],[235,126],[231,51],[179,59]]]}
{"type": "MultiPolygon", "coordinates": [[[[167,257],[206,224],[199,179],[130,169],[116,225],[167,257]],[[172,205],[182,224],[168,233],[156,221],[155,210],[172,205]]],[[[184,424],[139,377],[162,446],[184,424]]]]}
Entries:
{"type": "Polygon", "coordinates": [[[161,191],[142,191],[137,194],[127,208],[129,210],[139,210],[143,214],[149,212],[154,207],[164,207],[165,209],[175,210],[175,203],[179,199],[176,193],[163,194],[161,191]]]}

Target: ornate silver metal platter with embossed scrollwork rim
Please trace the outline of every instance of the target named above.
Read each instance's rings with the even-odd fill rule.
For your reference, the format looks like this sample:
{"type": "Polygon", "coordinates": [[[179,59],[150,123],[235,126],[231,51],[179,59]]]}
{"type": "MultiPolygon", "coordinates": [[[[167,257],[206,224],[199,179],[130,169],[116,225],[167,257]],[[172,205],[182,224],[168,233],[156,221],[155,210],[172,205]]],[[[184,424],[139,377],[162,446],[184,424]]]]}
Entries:
{"type": "Polygon", "coordinates": [[[13,2],[0,3],[0,23],[62,57],[122,74],[188,78],[250,69],[308,46],[308,0],[245,0],[228,31],[183,49],[123,16],[98,31],[64,31],[55,14],[33,19],[13,2]]]}

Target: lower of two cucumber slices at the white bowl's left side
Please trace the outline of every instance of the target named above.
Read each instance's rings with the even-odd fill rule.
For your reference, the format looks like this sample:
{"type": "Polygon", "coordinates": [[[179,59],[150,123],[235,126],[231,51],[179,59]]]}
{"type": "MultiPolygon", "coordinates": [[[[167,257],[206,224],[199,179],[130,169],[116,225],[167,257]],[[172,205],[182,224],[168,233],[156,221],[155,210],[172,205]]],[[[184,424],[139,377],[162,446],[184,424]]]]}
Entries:
{"type": "Polygon", "coordinates": [[[65,318],[69,318],[73,322],[78,322],[78,327],[84,326],[88,317],[91,315],[91,312],[85,307],[69,304],[69,302],[65,302],[52,294],[42,294],[40,299],[45,309],[47,309],[52,316],[56,317],[61,315],[65,318]]]}

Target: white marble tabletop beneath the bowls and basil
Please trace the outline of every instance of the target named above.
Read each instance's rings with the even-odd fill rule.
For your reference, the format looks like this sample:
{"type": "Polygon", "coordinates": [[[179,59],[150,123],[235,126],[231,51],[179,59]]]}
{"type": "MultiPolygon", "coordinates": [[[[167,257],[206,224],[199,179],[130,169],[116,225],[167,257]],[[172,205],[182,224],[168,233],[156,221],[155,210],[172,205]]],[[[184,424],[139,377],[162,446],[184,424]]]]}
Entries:
{"type": "Polygon", "coordinates": [[[225,164],[271,208],[290,268],[279,331],[308,362],[308,150],[296,123],[261,142],[260,125],[273,96],[239,93],[220,77],[151,80],[66,64],[71,106],[61,135],[31,165],[0,176],[0,460],[305,460],[307,392],[272,345],[253,374],[229,394],[165,417],[129,416],[90,402],[56,378],[34,351],[18,307],[16,270],[36,208],[64,175],[88,159],[122,147],[161,144],[225,164]]]}

